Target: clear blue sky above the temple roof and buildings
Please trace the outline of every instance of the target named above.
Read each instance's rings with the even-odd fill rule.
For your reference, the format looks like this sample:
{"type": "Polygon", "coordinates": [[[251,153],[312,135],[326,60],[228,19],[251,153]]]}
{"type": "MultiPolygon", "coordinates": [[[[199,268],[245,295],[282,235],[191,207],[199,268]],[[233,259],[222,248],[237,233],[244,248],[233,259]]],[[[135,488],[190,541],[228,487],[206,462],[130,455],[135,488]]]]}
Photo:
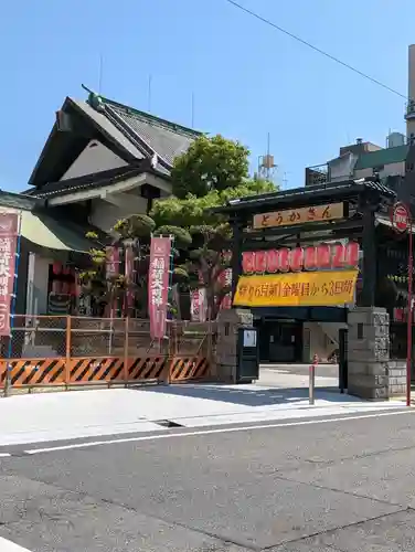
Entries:
{"type": "MultiPolygon", "coordinates": [[[[413,0],[241,0],[304,40],[407,92],[413,0]]],[[[0,20],[0,188],[23,190],[66,95],[81,84],[138,109],[272,152],[288,187],[362,137],[404,130],[404,99],[225,0],[14,0],[0,20]]]]}

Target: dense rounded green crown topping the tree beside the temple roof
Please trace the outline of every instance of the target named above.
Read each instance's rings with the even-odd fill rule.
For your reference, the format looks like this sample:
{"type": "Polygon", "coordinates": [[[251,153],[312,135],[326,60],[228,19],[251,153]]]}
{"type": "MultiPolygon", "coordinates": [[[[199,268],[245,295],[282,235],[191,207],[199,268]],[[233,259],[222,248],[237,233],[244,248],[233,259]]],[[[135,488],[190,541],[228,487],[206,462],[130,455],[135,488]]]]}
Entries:
{"type": "Polygon", "coordinates": [[[248,176],[249,150],[221,135],[201,136],[188,151],[174,159],[171,171],[173,194],[201,198],[213,190],[236,188],[248,176]]]}

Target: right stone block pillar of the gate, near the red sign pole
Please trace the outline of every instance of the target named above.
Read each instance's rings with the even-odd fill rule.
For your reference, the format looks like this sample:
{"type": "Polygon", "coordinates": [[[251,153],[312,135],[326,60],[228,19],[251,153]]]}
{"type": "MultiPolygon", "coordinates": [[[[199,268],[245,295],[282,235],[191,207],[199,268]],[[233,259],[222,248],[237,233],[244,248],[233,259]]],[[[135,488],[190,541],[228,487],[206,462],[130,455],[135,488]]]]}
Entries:
{"type": "Polygon", "coordinates": [[[351,395],[389,399],[390,323],[386,309],[357,307],[348,314],[348,368],[351,395]]]}

